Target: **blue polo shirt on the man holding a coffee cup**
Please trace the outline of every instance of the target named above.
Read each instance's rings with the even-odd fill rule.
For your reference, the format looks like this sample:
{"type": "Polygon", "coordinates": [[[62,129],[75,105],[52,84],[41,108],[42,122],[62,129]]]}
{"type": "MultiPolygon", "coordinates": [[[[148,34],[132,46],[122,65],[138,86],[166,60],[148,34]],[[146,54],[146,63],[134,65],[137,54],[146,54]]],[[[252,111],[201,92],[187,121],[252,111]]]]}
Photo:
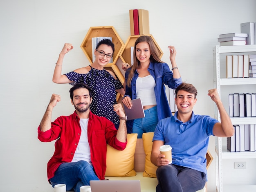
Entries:
{"type": "MultiPolygon", "coordinates": [[[[172,147],[172,163],[207,174],[206,153],[213,126],[218,120],[207,115],[195,115],[183,123],[174,116],[157,124],[153,141],[164,141],[172,147]]],[[[213,135],[214,136],[214,135],[213,135]]]]}

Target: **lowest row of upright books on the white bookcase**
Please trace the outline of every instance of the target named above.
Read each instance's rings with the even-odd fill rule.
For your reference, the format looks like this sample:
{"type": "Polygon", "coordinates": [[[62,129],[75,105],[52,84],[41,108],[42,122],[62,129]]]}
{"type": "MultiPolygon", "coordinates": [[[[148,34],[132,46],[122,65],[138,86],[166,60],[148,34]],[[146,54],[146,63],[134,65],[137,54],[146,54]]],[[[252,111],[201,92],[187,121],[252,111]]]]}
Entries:
{"type": "Polygon", "coordinates": [[[245,152],[256,150],[256,124],[233,125],[235,134],[227,137],[227,150],[230,152],[245,152]]]}

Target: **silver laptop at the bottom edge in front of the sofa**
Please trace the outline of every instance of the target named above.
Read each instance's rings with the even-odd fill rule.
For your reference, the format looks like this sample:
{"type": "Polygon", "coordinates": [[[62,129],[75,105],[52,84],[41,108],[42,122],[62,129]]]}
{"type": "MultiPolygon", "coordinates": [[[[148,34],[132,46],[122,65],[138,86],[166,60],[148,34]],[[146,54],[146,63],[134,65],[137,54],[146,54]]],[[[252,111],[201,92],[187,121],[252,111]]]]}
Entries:
{"type": "Polygon", "coordinates": [[[141,192],[139,180],[90,181],[92,192],[141,192]]]}

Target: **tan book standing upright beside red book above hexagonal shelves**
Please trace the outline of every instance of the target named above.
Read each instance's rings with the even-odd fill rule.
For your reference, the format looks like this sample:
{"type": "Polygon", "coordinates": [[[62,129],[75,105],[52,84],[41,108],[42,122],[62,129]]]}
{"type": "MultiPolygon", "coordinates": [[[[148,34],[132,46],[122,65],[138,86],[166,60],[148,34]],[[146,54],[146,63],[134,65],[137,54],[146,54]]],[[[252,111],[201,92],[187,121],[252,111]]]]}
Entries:
{"type": "Polygon", "coordinates": [[[149,19],[148,19],[148,10],[139,9],[139,34],[148,35],[149,33],[149,19]]]}

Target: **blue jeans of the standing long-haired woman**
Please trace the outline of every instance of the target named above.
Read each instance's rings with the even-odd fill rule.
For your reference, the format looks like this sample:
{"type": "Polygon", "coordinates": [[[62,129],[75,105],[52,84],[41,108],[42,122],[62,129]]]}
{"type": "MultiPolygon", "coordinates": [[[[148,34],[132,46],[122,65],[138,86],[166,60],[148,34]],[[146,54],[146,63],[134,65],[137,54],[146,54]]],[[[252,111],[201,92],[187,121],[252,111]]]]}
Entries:
{"type": "Polygon", "coordinates": [[[145,117],[133,121],[132,133],[137,133],[142,138],[143,133],[155,132],[158,123],[157,106],[144,110],[145,117]]]}

